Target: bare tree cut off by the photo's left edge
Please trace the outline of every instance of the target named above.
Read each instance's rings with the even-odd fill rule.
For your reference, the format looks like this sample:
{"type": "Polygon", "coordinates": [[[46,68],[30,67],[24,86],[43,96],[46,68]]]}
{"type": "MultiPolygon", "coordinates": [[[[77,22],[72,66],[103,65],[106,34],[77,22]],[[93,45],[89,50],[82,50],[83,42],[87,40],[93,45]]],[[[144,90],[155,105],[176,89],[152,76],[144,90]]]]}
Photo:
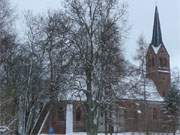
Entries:
{"type": "Polygon", "coordinates": [[[16,35],[12,27],[14,17],[9,1],[0,0],[0,126],[7,127],[10,134],[16,130],[15,89],[12,83],[16,48],[16,35]]]}

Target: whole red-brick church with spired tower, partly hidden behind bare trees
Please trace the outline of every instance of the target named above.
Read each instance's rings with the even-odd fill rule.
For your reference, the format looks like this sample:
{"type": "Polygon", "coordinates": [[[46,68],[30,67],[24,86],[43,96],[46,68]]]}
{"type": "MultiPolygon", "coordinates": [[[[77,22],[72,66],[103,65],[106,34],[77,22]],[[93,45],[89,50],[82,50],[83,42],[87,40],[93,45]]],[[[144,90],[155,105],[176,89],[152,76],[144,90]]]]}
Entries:
{"type": "MultiPolygon", "coordinates": [[[[104,114],[101,115],[99,132],[105,132],[105,127],[113,132],[152,132],[171,131],[170,124],[163,114],[164,97],[170,90],[170,56],[163,43],[161,25],[157,6],[155,7],[152,41],[146,54],[146,101],[143,96],[124,96],[113,106],[112,123],[105,126],[104,114]],[[122,109],[126,108],[126,109],[122,109]]],[[[143,89],[143,88],[139,88],[143,89]]],[[[86,112],[80,101],[61,101],[50,108],[47,103],[34,125],[31,135],[68,134],[69,132],[86,132],[86,112]],[[51,114],[51,115],[50,115],[51,114]]]]}

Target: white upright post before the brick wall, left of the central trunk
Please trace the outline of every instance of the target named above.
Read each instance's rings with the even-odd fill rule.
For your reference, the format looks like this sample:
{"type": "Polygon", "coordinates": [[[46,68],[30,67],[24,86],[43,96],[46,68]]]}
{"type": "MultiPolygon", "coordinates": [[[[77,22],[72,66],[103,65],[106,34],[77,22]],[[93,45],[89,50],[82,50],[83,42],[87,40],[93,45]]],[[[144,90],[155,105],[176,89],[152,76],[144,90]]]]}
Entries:
{"type": "Polygon", "coordinates": [[[73,135],[73,105],[67,104],[66,108],[66,134],[73,135]]]}

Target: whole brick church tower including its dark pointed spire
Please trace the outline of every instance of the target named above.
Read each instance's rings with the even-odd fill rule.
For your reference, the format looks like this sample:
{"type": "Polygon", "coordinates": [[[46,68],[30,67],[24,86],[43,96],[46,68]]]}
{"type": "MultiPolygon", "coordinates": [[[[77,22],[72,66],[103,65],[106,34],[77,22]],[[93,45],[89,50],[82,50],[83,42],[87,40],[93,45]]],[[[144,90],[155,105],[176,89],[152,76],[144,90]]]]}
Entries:
{"type": "Polygon", "coordinates": [[[165,97],[170,89],[170,56],[162,41],[158,8],[155,8],[152,41],[146,54],[147,77],[154,81],[159,94],[165,97]]]}

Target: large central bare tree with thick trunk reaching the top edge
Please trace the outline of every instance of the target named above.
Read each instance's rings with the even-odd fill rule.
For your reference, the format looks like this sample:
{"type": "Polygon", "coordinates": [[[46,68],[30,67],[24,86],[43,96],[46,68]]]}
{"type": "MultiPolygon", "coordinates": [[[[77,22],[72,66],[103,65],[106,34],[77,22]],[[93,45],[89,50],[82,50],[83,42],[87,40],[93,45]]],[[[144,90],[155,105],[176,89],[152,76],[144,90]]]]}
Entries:
{"type": "Polygon", "coordinates": [[[109,50],[112,51],[112,48],[115,47],[113,46],[114,43],[120,43],[119,41],[124,35],[123,31],[119,31],[122,35],[117,36],[120,29],[116,24],[119,21],[119,25],[121,25],[126,21],[126,7],[124,5],[120,7],[118,9],[120,12],[116,14],[117,12],[114,10],[116,4],[118,5],[116,0],[69,0],[67,3],[67,12],[74,24],[73,40],[71,42],[76,49],[76,58],[79,63],[78,69],[81,69],[81,75],[85,78],[86,87],[79,89],[79,92],[83,92],[86,97],[86,129],[89,135],[96,135],[98,132],[101,103],[105,104],[105,100],[106,103],[108,99],[111,100],[107,93],[112,88],[111,81],[113,81],[113,78],[107,76],[112,72],[117,72],[117,69],[110,70],[110,65],[120,63],[120,56],[115,53],[113,54],[115,56],[111,57],[112,52],[108,52],[107,49],[109,45],[109,50]],[[116,36],[118,38],[114,38],[116,36]],[[111,44],[113,45],[110,46],[111,44]],[[104,55],[102,55],[103,53],[104,55]],[[108,56],[109,59],[107,59],[108,56]],[[114,58],[113,61],[111,61],[112,58],[114,58]],[[107,62],[109,62],[109,65],[104,68],[103,66],[107,62]],[[108,81],[109,84],[106,87],[106,93],[103,91],[104,80],[108,81]],[[109,98],[105,99],[105,96],[109,98]]]}

